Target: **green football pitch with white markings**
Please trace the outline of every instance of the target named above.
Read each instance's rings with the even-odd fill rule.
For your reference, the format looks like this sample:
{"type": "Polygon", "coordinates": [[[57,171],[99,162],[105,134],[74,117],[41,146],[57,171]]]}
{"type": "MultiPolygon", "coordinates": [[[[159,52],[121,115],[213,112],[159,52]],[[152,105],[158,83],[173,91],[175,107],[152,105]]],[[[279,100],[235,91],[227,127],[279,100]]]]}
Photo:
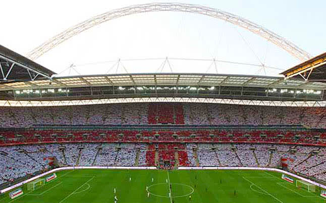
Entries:
{"type": "Polygon", "coordinates": [[[118,203],[325,202],[319,189],[315,193],[298,189],[282,180],[282,174],[266,171],[89,169],[57,175],[57,179],[33,191],[24,185],[24,195],[15,199],[6,193],[0,196],[0,202],[111,203],[115,196],[118,203]]]}

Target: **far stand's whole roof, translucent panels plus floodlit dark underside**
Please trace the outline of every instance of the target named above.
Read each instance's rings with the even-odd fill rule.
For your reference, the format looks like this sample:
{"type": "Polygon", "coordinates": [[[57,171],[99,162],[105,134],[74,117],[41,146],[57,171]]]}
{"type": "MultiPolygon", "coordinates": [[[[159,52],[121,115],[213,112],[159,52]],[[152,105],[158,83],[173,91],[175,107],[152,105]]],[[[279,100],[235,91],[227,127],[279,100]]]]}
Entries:
{"type": "Polygon", "coordinates": [[[247,100],[322,101],[326,83],[283,77],[190,73],[144,73],[53,77],[52,81],[0,85],[3,100],[80,100],[192,97],[247,100]]]}

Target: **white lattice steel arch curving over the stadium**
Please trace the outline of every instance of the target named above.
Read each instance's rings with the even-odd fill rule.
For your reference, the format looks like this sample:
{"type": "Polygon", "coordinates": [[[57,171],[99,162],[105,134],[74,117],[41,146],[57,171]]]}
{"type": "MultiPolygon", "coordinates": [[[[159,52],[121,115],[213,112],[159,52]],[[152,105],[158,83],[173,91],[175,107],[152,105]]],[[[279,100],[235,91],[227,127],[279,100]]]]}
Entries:
{"type": "Polygon", "coordinates": [[[297,45],[292,43],[291,41],[283,38],[282,36],[265,29],[264,27],[253,23],[249,20],[246,20],[240,16],[224,12],[218,9],[204,7],[200,5],[193,4],[182,4],[182,3],[151,3],[151,4],[142,4],[142,5],[133,5],[129,7],[124,7],[121,9],[116,9],[112,11],[108,11],[106,13],[97,15],[92,17],[86,21],[83,21],[59,34],[53,36],[49,40],[40,44],[31,52],[27,54],[27,57],[31,60],[35,60],[48,52],[50,49],[56,47],[62,42],[68,40],[69,38],[89,29],[93,26],[99,25],[109,20],[113,20],[122,16],[128,16],[132,14],[138,13],[146,13],[146,12],[155,12],[155,11],[175,11],[175,12],[187,12],[187,13],[195,13],[210,16],[216,19],[225,20],[229,23],[242,27],[246,30],[249,30],[266,40],[276,44],[282,49],[286,50],[290,55],[299,59],[300,61],[306,61],[311,58],[310,54],[305,52],[305,50],[299,48],[297,45]]]}

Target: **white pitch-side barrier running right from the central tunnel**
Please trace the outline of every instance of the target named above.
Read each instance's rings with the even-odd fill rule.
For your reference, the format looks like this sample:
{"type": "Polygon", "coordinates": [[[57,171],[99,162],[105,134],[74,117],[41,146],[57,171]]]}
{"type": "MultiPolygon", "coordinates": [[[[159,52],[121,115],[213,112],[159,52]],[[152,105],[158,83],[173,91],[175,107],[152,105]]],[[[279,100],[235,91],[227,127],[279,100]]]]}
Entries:
{"type": "Polygon", "coordinates": [[[326,189],[325,185],[322,185],[320,183],[314,182],[312,180],[309,180],[307,178],[303,178],[301,176],[298,176],[296,174],[283,171],[281,169],[275,169],[275,168],[260,168],[260,167],[178,167],[179,170],[261,170],[261,171],[276,171],[282,174],[287,174],[292,177],[298,178],[300,180],[303,180],[305,182],[317,185],[319,187],[322,187],[326,189]]]}

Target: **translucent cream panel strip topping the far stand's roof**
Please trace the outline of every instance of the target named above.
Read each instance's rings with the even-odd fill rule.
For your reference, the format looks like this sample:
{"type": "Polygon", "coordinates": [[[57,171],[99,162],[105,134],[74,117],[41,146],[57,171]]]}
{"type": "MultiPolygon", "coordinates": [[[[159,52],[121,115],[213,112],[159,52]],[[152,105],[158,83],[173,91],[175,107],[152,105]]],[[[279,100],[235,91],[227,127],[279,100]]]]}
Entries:
{"type": "Polygon", "coordinates": [[[52,81],[37,79],[4,83],[0,90],[21,90],[39,88],[96,87],[96,86],[243,86],[264,88],[295,88],[324,90],[322,82],[308,82],[296,79],[284,81],[283,77],[228,74],[192,73],[139,73],[113,75],[85,75],[53,77],[52,81]]]}

